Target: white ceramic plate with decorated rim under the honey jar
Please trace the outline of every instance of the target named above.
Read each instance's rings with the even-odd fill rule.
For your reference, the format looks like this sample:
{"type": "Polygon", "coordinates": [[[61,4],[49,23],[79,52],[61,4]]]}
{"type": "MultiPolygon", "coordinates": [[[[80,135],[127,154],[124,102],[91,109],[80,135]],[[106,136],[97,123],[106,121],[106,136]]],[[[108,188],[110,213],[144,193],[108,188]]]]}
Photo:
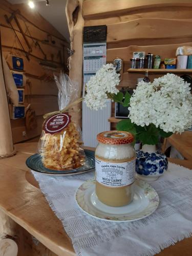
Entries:
{"type": "Polygon", "coordinates": [[[84,212],[97,219],[129,222],[151,215],[159,205],[159,197],[152,186],[136,180],[133,201],[129,205],[112,207],[98,200],[95,194],[95,180],[88,180],[77,189],[76,202],[84,212]]]}

